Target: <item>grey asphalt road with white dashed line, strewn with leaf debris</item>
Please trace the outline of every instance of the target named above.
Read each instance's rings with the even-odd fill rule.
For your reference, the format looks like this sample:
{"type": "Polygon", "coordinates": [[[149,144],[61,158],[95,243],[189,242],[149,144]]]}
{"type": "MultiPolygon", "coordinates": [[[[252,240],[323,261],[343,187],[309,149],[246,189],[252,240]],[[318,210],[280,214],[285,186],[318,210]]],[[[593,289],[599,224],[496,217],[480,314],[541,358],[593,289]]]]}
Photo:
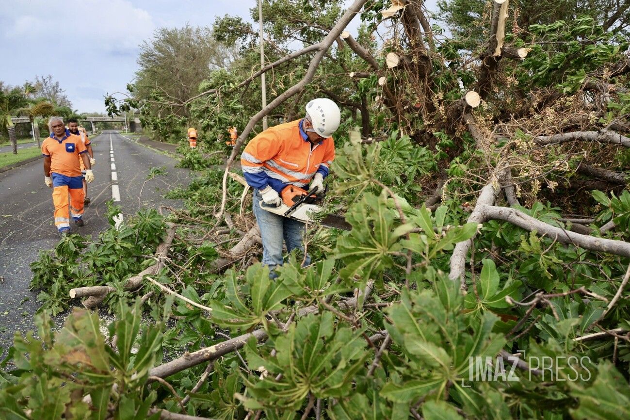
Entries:
{"type": "MultiPolygon", "coordinates": [[[[170,188],[190,181],[187,169],[175,168],[176,159],[115,131],[103,132],[90,140],[96,159],[95,181],[88,184],[92,203],[84,213],[84,227],[74,227],[71,222],[72,232],[96,237],[108,229],[106,201],[112,199],[115,186],[120,191],[117,204],[123,208],[123,220],[139,208],[180,204],[162,197],[170,188]],[[151,167],[162,166],[168,174],[145,183],[151,167]],[[112,181],[114,172],[117,180],[112,181]]],[[[34,329],[33,314],[39,305],[37,292],[28,290],[32,278],[29,264],[37,259],[40,250],[52,249],[59,242],[51,194],[43,182],[42,160],[0,174],[0,347],[5,350],[13,343],[14,331],[34,329]]],[[[80,302],[77,300],[76,304],[80,302]]]]}

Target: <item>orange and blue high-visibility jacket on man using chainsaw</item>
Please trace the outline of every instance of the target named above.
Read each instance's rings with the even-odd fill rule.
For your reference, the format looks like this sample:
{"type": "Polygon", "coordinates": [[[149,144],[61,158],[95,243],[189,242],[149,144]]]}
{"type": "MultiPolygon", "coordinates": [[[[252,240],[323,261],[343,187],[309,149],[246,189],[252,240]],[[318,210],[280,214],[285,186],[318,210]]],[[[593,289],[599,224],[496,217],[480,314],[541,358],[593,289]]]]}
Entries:
{"type": "Polygon", "coordinates": [[[324,178],[328,175],[335,159],[333,138],[311,149],[302,121],[268,128],[249,141],[241,154],[241,168],[249,186],[260,190],[270,185],[280,193],[287,184],[306,186],[318,172],[324,178]]]}

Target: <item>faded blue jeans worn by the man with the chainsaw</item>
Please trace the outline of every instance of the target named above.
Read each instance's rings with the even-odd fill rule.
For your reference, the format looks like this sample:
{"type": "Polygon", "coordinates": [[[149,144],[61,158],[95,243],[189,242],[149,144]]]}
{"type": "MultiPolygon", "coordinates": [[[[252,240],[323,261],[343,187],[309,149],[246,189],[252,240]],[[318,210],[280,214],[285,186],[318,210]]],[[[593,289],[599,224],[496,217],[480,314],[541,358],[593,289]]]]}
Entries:
{"type": "MultiPolygon", "coordinates": [[[[304,247],[302,247],[304,224],[263,210],[258,204],[262,199],[260,191],[255,189],[252,207],[260,229],[260,237],[263,240],[263,264],[268,265],[269,269],[273,270],[275,266],[282,265],[283,240],[287,244],[287,251],[291,252],[294,249],[304,251],[304,247]]],[[[309,264],[311,264],[311,258],[307,255],[302,265],[307,266],[309,264]]]]}

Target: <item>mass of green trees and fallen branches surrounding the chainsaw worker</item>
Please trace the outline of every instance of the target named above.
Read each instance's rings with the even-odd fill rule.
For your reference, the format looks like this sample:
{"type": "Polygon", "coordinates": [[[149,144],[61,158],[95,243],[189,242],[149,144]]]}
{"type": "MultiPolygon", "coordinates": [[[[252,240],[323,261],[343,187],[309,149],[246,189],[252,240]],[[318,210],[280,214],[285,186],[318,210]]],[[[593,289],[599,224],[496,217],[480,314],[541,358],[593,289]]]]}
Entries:
{"type": "Polygon", "coordinates": [[[38,331],[16,332],[0,364],[0,413],[630,417],[628,8],[343,4],[263,2],[262,70],[256,26],[238,17],[147,41],[137,80],[154,64],[170,77],[106,104],[139,109],[160,139],[196,127],[180,165],[197,177],[168,192],[182,208],[142,209],[115,229],[112,205],[96,241],[42,251],[38,331]],[[176,96],[169,82],[193,79],[163,58],[186,40],[239,54],[203,61],[176,96]],[[314,264],[292,254],[271,281],[234,163],[263,116],[301,118],[316,96],[342,108],[326,211],[352,230],[309,226],[314,264]],[[117,317],[106,332],[98,307],[117,317]],[[53,331],[50,315],[71,309],[53,331]]]}

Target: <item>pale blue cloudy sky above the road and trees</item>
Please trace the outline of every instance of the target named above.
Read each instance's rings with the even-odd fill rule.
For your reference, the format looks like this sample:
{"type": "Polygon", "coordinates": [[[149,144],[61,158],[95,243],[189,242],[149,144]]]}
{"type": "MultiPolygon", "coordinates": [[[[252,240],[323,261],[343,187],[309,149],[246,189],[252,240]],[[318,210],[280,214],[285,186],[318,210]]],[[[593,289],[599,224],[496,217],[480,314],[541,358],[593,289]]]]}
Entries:
{"type": "MultiPolygon", "coordinates": [[[[434,3],[430,0],[427,3],[434,3]]],[[[79,112],[105,112],[106,93],[124,92],[143,40],[157,28],[212,26],[257,0],[1,0],[0,81],[22,85],[52,75],[79,112]],[[13,59],[8,60],[8,57],[13,59]]],[[[349,3],[349,1],[347,2],[349,3]]],[[[356,31],[358,18],[348,27],[356,31]]]]}

